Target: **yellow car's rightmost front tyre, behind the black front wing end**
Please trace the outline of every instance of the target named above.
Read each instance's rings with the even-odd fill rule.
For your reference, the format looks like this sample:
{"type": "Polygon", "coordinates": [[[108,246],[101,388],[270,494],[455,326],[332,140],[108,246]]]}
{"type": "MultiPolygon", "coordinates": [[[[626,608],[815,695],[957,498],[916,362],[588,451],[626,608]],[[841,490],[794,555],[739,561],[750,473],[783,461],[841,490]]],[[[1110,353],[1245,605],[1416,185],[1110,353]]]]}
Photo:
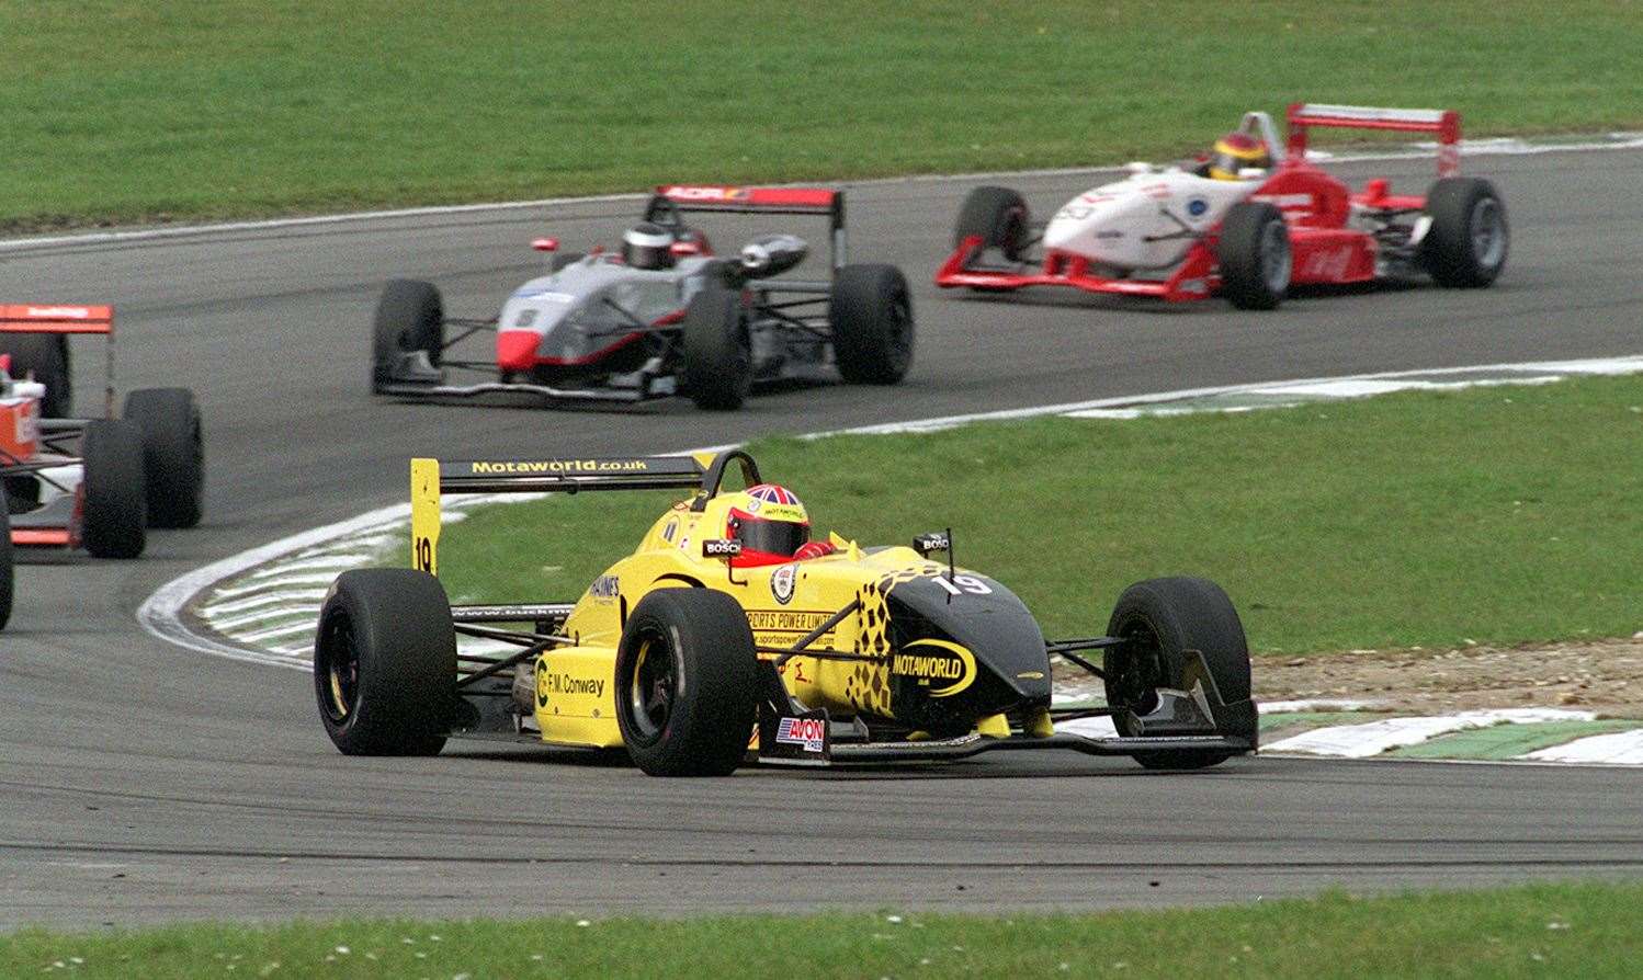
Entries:
{"type": "MultiPolygon", "coordinates": [[[[1186,650],[1203,653],[1204,666],[1226,704],[1249,701],[1249,643],[1232,601],[1204,578],[1152,578],[1124,589],[1107,635],[1127,640],[1102,655],[1107,704],[1147,714],[1157,689],[1183,689],[1186,650]]],[[[1121,735],[1135,735],[1127,712],[1112,716],[1121,735]]],[[[1181,750],[1137,755],[1147,768],[1204,768],[1231,758],[1226,752],[1181,750]]]]}

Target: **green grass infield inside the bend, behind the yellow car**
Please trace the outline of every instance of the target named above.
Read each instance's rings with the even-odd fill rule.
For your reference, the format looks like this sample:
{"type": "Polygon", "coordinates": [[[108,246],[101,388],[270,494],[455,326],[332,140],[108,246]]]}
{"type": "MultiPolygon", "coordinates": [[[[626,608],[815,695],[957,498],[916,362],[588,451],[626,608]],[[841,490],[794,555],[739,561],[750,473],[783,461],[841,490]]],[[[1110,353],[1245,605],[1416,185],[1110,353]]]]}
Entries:
{"type": "MultiPolygon", "coordinates": [[[[951,525],[960,565],[1047,635],[1104,629],[1132,581],[1204,575],[1257,652],[1319,652],[1643,629],[1640,445],[1643,376],[749,448],[818,537],[951,525]]],[[[481,509],[444,535],[440,575],[460,601],[573,599],[670,499],[481,509]]]]}

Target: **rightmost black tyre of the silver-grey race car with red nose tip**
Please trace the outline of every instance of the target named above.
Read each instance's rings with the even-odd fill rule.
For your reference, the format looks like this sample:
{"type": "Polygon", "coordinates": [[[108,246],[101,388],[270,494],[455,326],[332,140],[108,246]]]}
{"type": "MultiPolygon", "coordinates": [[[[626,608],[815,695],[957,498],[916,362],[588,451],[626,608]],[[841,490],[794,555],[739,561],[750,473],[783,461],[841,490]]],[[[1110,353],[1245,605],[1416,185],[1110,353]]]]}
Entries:
{"type": "Polygon", "coordinates": [[[914,297],[895,266],[845,266],[828,300],[833,358],[851,384],[897,384],[914,363],[914,297]]]}

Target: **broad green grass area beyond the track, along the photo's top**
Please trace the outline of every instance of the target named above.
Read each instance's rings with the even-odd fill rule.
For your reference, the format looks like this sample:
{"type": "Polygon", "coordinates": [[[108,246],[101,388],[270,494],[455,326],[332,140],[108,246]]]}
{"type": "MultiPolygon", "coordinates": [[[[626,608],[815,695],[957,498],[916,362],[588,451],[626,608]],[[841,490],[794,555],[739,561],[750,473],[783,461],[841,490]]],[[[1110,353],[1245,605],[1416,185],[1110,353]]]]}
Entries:
{"type": "Polygon", "coordinates": [[[1643,7],[0,0],[0,228],[1162,159],[1291,100],[1643,126],[1643,7]]]}

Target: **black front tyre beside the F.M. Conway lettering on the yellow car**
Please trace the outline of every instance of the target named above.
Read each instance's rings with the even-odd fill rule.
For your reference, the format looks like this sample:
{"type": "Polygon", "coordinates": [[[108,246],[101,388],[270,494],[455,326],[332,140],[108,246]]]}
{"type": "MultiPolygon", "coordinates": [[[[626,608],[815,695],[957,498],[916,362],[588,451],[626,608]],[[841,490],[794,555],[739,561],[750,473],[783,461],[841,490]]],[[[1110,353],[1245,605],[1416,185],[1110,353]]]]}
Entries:
{"type": "Polygon", "coordinates": [[[757,716],[748,614],[713,589],[656,589],[634,606],[616,650],[616,724],[652,776],[725,776],[757,716]]]}

